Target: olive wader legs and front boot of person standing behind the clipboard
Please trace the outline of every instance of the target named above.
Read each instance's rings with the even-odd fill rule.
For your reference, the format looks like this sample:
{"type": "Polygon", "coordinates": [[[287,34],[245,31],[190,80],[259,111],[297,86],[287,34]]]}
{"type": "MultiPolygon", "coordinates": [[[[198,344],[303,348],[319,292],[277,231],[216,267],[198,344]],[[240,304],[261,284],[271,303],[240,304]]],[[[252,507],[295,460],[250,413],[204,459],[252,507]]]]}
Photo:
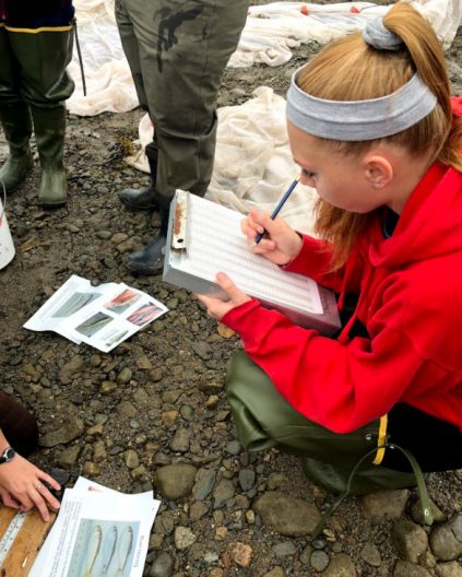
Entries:
{"type": "Polygon", "coordinates": [[[216,98],[236,49],[248,0],[121,0],[139,44],[140,70],[154,121],[161,232],[129,257],[129,268],[151,274],[163,257],[169,204],[177,188],[203,196],[212,177],[216,98]]]}

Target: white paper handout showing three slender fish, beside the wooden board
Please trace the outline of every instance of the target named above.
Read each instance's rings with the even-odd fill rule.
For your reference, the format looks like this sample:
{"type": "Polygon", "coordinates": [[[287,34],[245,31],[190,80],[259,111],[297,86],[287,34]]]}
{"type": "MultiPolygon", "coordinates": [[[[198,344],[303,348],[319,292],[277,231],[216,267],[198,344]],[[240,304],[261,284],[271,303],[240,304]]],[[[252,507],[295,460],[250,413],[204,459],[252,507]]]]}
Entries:
{"type": "Polygon", "coordinates": [[[79,478],[29,577],[142,577],[159,505],[152,491],[127,495],[79,478]]]}

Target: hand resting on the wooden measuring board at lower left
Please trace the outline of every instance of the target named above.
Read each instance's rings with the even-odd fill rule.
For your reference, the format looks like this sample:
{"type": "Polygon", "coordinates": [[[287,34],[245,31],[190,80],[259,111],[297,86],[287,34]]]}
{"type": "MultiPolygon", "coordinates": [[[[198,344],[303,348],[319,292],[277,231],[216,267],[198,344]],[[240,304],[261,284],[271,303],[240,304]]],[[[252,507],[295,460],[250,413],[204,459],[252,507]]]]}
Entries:
{"type": "Polygon", "coordinates": [[[16,454],[11,461],[0,464],[0,498],[7,507],[23,511],[37,507],[44,521],[48,521],[50,516],[47,505],[59,509],[59,501],[42,481],[56,491],[61,488],[49,474],[16,454]]]}

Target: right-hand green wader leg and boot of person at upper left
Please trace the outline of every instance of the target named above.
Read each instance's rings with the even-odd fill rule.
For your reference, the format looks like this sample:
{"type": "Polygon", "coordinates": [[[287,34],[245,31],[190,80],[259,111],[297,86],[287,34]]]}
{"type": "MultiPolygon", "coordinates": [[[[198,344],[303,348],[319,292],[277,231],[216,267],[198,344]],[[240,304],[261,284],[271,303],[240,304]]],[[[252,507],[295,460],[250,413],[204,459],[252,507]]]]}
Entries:
{"type": "Polygon", "coordinates": [[[39,32],[9,32],[11,49],[21,63],[21,95],[29,104],[42,166],[38,202],[60,207],[67,200],[62,163],[66,136],[63,102],[74,90],[66,72],[72,58],[73,27],[39,32]]]}

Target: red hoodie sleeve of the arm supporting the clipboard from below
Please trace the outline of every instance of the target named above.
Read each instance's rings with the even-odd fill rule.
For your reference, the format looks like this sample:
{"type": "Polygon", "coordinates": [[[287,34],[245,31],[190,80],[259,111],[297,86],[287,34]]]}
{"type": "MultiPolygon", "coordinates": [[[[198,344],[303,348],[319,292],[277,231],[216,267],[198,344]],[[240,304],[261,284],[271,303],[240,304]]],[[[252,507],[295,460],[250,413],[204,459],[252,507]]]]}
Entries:
{"type": "Polygon", "coordinates": [[[383,327],[343,344],[292,323],[252,299],[222,319],[280,393],[309,420],[336,433],[387,413],[418,372],[422,357],[405,334],[383,327]]]}

